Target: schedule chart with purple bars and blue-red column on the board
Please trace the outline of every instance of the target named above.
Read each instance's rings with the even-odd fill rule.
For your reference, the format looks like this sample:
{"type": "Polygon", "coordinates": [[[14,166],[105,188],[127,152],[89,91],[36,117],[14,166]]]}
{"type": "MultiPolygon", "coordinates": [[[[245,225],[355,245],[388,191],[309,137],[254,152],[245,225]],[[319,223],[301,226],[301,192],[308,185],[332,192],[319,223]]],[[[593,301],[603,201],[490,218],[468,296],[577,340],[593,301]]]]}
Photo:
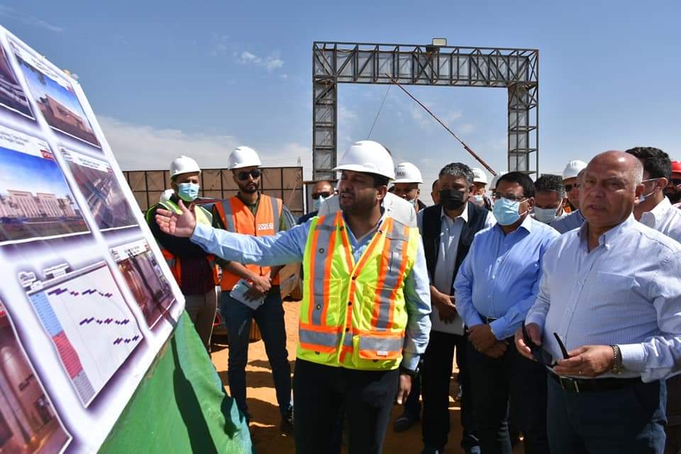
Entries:
{"type": "Polygon", "coordinates": [[[28,299],[82,404],[87,407],[143,339],[105,262],[63,263],[19,273],[28,299]]]}

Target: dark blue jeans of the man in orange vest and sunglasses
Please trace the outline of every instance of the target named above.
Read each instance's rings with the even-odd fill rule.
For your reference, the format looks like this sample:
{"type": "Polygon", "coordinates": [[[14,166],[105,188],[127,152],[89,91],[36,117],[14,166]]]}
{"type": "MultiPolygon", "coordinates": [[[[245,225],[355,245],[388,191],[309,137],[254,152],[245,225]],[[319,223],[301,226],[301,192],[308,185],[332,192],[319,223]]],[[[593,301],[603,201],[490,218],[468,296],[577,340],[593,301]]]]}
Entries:
{"type": "Polygon", "coordinates": [[[286,350],[286,329],[284,328],[284,307],[279,287],[272,287],[265,302],[257,310],[238,302],[223,291],[220,298],[220,312],[229,337],[229,358],[227,377],[229,392],[236,400],[237,407],[248,415],[246,405],[246,363],[248,363],[248,341],[251,320],[255,318],[265,342],[265,353],[272,367],[279,412],[288,415],[292,409],[291,365],[286,350]]]}

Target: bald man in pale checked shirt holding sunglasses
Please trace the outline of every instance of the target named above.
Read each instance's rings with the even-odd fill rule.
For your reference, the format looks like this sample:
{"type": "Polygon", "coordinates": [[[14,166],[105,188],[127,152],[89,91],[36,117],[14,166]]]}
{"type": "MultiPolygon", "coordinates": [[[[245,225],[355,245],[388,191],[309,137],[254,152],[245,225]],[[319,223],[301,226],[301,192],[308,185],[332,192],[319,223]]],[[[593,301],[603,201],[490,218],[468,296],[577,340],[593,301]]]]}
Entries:
{"type": "MultiPolygon", "coordinates": [[[[681,370],[681,244],[636,222],[644,191],[633,154],[598,154],[580,188],[585,224],[544,256],[525,327],[558,360],[547,378],[552,454],[663,453],[665,379],[681,370]]],[[[520,331],[516,346],[532,357],[520,331]]]]}

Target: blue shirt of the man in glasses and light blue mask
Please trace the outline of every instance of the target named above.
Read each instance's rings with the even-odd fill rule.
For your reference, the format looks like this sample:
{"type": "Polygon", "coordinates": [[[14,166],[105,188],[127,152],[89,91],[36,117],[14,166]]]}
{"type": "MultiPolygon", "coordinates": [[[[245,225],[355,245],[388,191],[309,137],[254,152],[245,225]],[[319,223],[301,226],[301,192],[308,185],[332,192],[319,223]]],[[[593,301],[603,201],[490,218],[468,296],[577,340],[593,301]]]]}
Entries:
{"type": "Polygon", "coordinates": [[[536,300],[544,252],[558,236],[530,216],[509,234],[498,224],[478,232],[454,281],[456,310],[465,324],[495,318],[489,324],[494,336],[513,336],[536,300]]]}

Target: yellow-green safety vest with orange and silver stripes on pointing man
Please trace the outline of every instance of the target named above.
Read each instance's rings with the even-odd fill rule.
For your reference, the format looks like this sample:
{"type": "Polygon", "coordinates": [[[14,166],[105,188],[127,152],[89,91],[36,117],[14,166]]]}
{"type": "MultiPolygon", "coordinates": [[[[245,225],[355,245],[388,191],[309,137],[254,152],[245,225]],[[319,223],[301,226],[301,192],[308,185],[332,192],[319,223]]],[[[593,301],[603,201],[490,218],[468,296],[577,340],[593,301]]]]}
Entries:
{"type": "Polygon", "coordinates": [[[357,370],[398,368],[407,322],[404,278],[419,242],[418,229],[387,217],[355,263],[341,212],[313,218],[297,357],[357,370]]]}

